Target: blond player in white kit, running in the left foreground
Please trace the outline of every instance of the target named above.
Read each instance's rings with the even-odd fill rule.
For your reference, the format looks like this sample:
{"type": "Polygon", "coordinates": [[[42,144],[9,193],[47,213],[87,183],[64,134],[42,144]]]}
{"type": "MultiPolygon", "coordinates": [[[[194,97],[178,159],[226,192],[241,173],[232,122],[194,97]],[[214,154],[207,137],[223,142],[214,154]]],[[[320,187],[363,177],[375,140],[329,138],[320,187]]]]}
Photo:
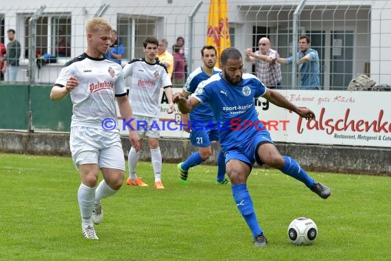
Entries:
{"type": "MultiPolygon", "coordinates": [[[[78,202],[82,233],[88,239],[98,239],[93,223],[102,221],[101,199],[115,194],[125,177],[119,129],[104,128],[105,120],[117,119],[115,98],[121,117],[132,118],[122,68],[104,57],[110,47],[111,30],[110,23],[102,18],[86,23],[86,52],[62,68],[50,93],[51,100],[62,100],[71,93],[73,115],[69,145],[82,181],[78,202]],[[99,170],[104,179],[97,186],[99,170]]],[[[139,150],[136,131],[129,131],[129,139],[135,150],[139,150]]]]}

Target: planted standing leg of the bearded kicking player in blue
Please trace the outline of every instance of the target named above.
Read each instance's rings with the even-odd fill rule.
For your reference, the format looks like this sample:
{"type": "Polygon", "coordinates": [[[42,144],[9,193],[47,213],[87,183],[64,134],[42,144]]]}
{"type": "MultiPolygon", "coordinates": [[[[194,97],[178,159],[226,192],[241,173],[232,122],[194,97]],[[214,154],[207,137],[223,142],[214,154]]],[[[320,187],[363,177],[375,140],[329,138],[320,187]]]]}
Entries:
{"type": "Polygon", "coordinates": [[[247,178],[251,166],[251,161],[239,152],[230,151],[226,155],[226,172],[232,184],[232,194],[237,209],[252,232],[254,244],[257,247],[263,247],[266,245],[266,238],[258,224],[252,198],[247,189],[247,178]]]}

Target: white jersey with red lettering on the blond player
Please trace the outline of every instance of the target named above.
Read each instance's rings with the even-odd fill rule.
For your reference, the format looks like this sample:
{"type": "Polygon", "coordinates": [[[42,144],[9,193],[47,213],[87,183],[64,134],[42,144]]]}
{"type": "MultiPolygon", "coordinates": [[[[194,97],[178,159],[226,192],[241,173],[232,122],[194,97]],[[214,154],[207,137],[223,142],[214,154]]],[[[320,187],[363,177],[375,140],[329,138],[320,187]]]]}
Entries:
{"type": "Polygon", "coordinates": [[[71,91],[71,127],[102,129],[104,119],[117,119],[115,96],[126,95],[121,65],[84,53],[65,64],[54,85],[64,87],[71,76],[79,82],[71,91]]]}

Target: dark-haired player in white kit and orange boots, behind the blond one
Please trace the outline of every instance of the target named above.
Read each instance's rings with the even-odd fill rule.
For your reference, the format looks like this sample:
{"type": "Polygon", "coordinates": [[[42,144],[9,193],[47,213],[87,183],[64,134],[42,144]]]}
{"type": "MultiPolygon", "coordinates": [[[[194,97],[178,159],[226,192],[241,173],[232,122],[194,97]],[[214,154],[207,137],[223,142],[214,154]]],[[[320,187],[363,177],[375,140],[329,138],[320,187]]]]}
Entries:
{"type": "MultiPolygon", "coordinates": [[[[168,113],[174,112],[172,102],[172,84],[167,73],[167,68],[163,63],[158,62],[156,54],[158,52],[158,39],[150,36],[143,41],[143,52],[145,58],[131,60],[123,67],[123,74],[130,77],[129,100],[132,104],[134,122],[137,122],[137,133],[139,133],[139,143],[142,145],[142,138],[147,137],[151,152],[152,167],[154,169],[155,185],[157,190],[164,189],[161,181],[162,156],[159,148],[158,138],[160,130],[159,122],[159,94],[161,87],[164,88],[165,95],[169,102],[168,113]]],[[[128,185],[147,186],[137,177],[136,166],[139,161],[140,152],[132,146],[129,151],[129,178],[128,185]]]]}

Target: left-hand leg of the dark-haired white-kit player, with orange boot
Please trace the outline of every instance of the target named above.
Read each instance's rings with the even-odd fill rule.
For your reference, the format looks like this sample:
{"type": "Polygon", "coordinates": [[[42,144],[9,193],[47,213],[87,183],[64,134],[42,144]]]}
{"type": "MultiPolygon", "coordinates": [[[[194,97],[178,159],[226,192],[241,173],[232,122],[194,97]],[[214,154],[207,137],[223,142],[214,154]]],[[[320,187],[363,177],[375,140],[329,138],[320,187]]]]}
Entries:
{"type": "MultiPolygon", "coordinates": [[[[139,137],[140,137],[139,142],[140,142],[140,146],[142,148],[143,137],[145,134],[145,128],[139,127],[139,123],[140,122],[142,123],[145,120],[140,115],[133,115],[133,117],[134,117],[135,122],[137,122],[137,124],[138,124],[136,131],[139,134],[139,137]]],[[[137,168],[137,163],[139,162],[140,152],[141,152],[141,150],[136,151],[136,149],[133,146],[129,150],[129,154],[128,154],[129,177],[126,180],[126,184],[127,185],[137,185],[139,187],[147,187],[147,184],[143,183],[143,181],[141,180],[141,177],[137,177],[137,174],[136,174],[136,168],[137,168]]]]}

